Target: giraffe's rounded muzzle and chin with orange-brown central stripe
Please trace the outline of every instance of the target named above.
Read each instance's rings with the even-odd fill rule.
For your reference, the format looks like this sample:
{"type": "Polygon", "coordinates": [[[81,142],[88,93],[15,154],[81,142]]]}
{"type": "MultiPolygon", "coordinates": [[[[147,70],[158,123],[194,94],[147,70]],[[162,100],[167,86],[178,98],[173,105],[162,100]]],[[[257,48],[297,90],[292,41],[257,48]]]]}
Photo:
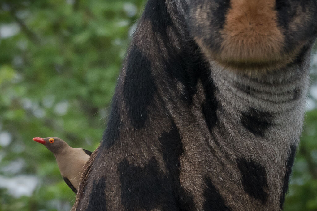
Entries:
{"type": "Polygon", "coordinates": [[[188,21],[191,33],[209,62],[229,69],[263,72],[284,68],[296,62],[303,47],[311,46],[315,39],[316,3],[202,2],[193,3],[188,21]],[[305,9],[308,7],[312,9],[305,9]]]}

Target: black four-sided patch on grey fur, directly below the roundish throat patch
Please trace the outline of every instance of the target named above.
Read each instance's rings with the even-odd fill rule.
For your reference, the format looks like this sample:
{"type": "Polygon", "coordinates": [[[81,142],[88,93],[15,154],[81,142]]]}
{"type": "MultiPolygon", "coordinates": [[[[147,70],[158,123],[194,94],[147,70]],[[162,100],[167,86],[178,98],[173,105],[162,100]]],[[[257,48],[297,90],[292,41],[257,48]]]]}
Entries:
{"type": "Polygon", "coordinates": [[[268,198],[264,190],[268,187],[264,166],[245,158],[239,158],[236,162],[241,173],[244,191],[264,204],[268,198]]]}

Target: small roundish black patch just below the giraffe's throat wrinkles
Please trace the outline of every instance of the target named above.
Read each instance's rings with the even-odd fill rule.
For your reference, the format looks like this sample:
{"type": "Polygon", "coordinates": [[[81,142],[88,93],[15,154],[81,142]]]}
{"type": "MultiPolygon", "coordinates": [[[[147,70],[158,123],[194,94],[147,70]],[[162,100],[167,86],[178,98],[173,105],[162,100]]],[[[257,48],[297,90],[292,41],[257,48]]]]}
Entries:
{"type": "Polygon", "coordinates": [[[259,111],[255,108],[249,108],[247,112],[242,113],[241,123],[251,133],[256,136],[264,137],[265,131],[274,125],[273,115],[266,111],[259,111]]]}

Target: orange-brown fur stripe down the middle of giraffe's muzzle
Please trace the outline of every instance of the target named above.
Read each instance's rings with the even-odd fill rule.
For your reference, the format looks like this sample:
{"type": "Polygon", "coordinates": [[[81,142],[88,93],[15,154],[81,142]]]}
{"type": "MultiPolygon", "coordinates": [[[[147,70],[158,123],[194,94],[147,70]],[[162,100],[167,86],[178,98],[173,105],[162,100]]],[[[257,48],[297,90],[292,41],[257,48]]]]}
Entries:
{"type": "Polygon", "coordinates": [[[284,36],[277,26],[275,0],[231,0],[221,32],[221,60],[278,61],[284,36]]]}

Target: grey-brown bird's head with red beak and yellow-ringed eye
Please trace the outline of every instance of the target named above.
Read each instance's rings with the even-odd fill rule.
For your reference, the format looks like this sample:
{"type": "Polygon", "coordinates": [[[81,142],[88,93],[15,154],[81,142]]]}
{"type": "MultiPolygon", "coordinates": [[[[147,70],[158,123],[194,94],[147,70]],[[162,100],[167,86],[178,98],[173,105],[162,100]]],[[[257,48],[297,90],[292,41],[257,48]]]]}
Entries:
{"type": "Polygon", "coordinates": [[[46,148],[48,148],[49,151],[53,152],[54,155],[62,152],[63,149],[68,146],[65,141],[56,137],[49,137],[44,139],[36,137],[33,140],[46,146],[46,148]]]}

